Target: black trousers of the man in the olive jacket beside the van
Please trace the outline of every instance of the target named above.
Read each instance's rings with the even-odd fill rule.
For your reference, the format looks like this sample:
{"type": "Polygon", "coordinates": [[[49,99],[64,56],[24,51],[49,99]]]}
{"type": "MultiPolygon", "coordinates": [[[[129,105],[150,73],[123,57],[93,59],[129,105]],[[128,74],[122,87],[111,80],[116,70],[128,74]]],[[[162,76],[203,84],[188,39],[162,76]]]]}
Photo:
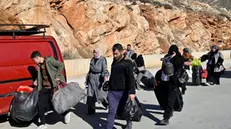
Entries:
{"type": "Polygon", "coordinates": [[[51,103],[53,91],[51,89],[42,88],[39,92],[38,112],[41,124],[46,123],[45,113],[53,110],[51,103]]]}

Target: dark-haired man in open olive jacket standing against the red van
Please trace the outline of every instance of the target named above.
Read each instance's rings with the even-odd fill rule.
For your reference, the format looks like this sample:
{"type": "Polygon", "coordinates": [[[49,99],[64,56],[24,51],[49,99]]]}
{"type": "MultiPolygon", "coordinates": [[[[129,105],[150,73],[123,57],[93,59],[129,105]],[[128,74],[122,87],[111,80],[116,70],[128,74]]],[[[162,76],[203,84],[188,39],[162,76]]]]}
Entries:
{"type": "MultiPolygon", "coordinates": [[[[52,106],[51,100],[54,90],[58,89],[58,83],[65,82],[62,75],[64,64],[56,61],[54,58],[42,57],[39,51],[34,51],[31,54],[31,59],[38,65],[38,76],[34,85],[37,86],[39,91],[39,118],[41,125],[38,129],[46,129],[45,126],[45,112],[47,108],[52,106]]],[[[65,113],[65,123],[70,121],[70,113],[65,113]]]]}

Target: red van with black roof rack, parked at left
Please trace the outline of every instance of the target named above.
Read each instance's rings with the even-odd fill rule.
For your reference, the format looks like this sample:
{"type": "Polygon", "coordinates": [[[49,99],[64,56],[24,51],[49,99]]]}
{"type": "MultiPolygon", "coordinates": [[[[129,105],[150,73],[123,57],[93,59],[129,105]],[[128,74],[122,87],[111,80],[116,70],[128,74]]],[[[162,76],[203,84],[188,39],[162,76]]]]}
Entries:
{"type": "MultiPolygon", "coordinates": [[[[14,91],[19,86],[31,86],[36,79],[37,66],[30,58],[33,51],[64,62],[55,39],[45,35],[45,25],[11,24],[0,28],[2,26],[19,29],[0,30],[0,115],[10,111],[14,91]],[[27,29],[22,29],[25,27],[27,29]]],[[[65,70],[63,74],[66,77],[65,70]]]]}

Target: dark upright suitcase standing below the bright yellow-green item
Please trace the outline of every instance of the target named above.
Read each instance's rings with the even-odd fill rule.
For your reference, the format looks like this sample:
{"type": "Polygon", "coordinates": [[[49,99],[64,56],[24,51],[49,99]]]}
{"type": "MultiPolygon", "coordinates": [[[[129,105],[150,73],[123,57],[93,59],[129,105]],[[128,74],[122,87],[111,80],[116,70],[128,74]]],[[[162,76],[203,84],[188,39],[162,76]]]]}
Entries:
{"type": "Polygon", "coordinates": [[[201,84],[201,67],[192,67],[192,83],[193,85],[201,84]]]}

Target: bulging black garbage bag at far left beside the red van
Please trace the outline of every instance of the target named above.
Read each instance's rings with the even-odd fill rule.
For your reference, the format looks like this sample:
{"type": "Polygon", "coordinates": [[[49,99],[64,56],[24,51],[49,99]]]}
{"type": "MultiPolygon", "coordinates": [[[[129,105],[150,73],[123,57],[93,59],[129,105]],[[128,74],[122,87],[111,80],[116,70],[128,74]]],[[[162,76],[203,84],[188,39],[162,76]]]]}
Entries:
{"type": "Polygon", "coordinates": [[[11,117],[13,120],[31,121],[38,114],[38,91],[15,92],[12,101],[11,117]]]}

